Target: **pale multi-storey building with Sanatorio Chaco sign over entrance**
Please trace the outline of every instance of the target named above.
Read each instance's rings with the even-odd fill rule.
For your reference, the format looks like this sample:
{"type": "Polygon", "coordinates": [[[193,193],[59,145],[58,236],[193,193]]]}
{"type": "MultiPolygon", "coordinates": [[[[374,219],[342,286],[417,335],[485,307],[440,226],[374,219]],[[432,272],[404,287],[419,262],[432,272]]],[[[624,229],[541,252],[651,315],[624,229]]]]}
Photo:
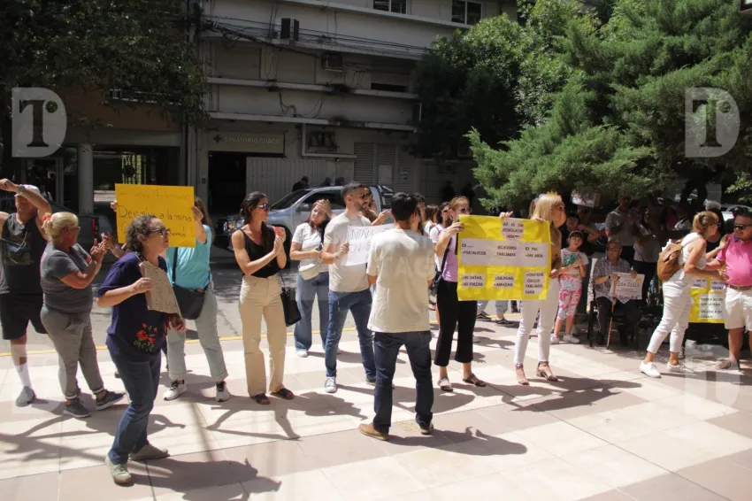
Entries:
{"type": "Polygon", "coordinates": [[[272,201],[307,176],[441,197],[469,159],[437,166],[411,154],[420,117],[414,70],[436,37],[514,2],[464,0],[208,0],[199,50],[210,126],[188,140],[197,193],[236,212],[249,190],[272,201]]]}

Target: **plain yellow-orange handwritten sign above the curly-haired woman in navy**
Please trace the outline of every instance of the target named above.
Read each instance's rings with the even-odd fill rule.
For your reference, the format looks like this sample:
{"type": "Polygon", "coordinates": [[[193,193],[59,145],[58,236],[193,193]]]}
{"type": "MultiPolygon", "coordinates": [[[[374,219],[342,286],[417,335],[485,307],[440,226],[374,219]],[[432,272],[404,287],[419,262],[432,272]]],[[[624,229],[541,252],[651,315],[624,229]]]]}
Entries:
{"type": "Polygon", "coordinates": [[[154,214],[170,230],[171,247],[196,247],[192,186],[116,184],[115,197],[120,240],[125,239],[126,228],[136,216],[154,214]]]}

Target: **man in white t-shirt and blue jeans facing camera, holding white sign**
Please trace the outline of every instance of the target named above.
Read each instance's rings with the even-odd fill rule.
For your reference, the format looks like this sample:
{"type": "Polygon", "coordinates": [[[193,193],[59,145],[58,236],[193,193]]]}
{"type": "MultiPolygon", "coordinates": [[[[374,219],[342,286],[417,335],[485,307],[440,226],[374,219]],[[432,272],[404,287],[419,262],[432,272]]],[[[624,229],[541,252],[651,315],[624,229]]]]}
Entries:
{"type": "Polygon", "coordinates": [[[324,362],[326,364],[326,393],[337,391],[337,347],[348,312],[352,313],[360,341],[360,357],[365,369],[365,382],[376,384],[376,367],[373,365],[373,341],[368,330],[371,314],[371,290],[365,277],[365,266],[347,266],[349,252],[348,228],[371,226],[371,221],[361,215],[370,190],[362,183],[349,182],[342,188],[345,212],[335,216],[326,225],[324,249],[321,258],[333,260],[329,266],[329,328],[326,332],[324,362]]]}

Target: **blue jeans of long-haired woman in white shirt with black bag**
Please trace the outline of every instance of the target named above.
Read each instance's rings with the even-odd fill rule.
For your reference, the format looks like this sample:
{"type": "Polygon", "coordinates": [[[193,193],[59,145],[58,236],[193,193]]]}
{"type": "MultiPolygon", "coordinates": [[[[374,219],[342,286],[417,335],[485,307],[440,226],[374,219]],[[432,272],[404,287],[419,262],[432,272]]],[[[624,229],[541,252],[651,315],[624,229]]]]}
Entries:
{"type": "Polygon", "coordinates": [[[313,303],[318,296],[318,334],[321,346],[326,346],[326,330],[329,328],[329,274],[321,273],[311,280],[297,275],[297,308],[300,320],[295,324],[295,349],[311,350],[313,343],[313,303]]]}

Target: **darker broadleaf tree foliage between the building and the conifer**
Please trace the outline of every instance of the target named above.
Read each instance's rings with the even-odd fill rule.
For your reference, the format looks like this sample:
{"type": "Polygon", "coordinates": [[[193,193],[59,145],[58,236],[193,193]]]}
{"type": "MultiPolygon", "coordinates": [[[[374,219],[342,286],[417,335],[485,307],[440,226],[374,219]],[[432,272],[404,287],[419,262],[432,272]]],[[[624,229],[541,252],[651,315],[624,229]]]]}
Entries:
{"type": "Polygon", "coordinates": [[[575,2],[520,4],[525,23],[506,15],[483,19],[466,32],[440,38],[418,65],[423,105],[417,149],[426,158],[452,158],[475,127],[491,144],[541,123],[572,68],[559,58],[566,27],[595,29],[594,16],[575,2]]]}

